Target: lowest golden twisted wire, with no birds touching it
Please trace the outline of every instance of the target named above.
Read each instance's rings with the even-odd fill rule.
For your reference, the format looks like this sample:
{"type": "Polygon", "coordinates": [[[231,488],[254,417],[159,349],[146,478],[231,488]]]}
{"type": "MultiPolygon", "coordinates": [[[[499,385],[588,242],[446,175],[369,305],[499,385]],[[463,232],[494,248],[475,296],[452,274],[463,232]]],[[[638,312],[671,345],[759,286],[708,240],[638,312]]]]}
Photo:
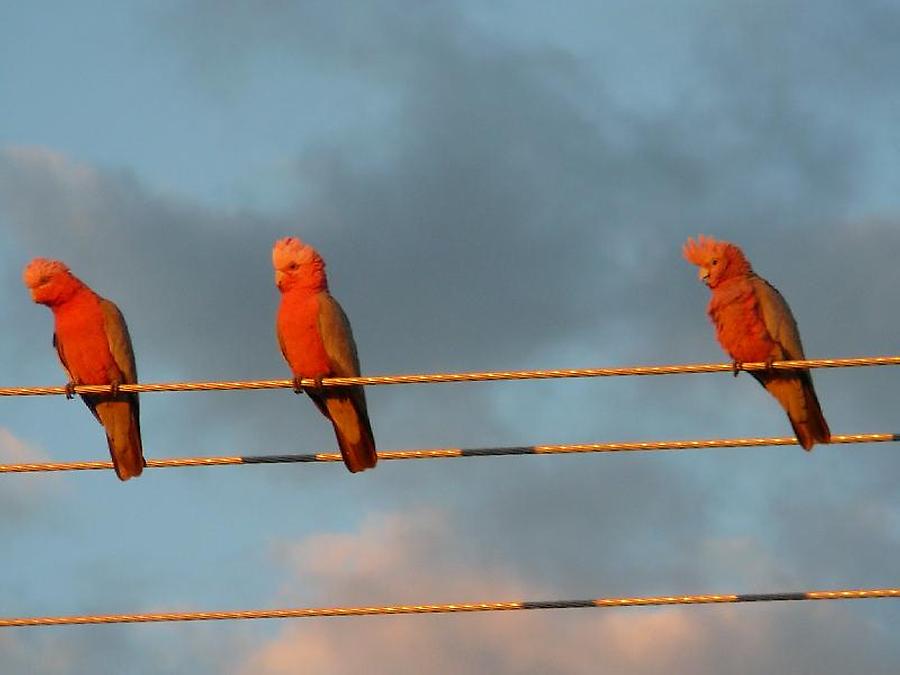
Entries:
{"type": "Polygon", "coordinates": [[[866,600],[898,598],[900,588],[865,590],[806,591],[799,593],[744,593],[733,595],[671,595],[640,598],[595,598],[590,600],[538,600],[477,602],[452,605],[386,605],[382,607],[310,607],[258,609],[226,612],[165,612],[152,614],[104,614],[83,616],[35,616],[0,618],[0,627],[72,626],[110,623],[161,623],[173,621],[224,621],[238,619],[307,619],[334,616],[376,616],[396,614],[450,614],[462,612],[504,612],[532,609],[581,609],[601,607],[646,607],[650,605],[710,605],[741,602],[789,602],[801,600],[866,600]]]}

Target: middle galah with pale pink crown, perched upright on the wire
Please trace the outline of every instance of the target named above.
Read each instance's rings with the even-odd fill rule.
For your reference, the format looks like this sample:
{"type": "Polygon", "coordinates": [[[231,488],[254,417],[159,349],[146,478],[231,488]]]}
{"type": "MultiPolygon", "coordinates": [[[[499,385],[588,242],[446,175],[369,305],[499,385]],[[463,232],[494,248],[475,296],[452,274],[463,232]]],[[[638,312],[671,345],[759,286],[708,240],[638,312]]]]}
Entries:
{"type": "Polygon", "coordinates": [[[378,461],[375,438],[361,386],[302,387],[301,379],[359,375],[359,357],[350,322],[328,292],[325,261],[296,237],[275,242],[272,249],[275,285],[281,305],[275,321],[281,353],[294,374],[294,391],[305,391],[331,420],[341,456],[356,473],[378,461]]]}

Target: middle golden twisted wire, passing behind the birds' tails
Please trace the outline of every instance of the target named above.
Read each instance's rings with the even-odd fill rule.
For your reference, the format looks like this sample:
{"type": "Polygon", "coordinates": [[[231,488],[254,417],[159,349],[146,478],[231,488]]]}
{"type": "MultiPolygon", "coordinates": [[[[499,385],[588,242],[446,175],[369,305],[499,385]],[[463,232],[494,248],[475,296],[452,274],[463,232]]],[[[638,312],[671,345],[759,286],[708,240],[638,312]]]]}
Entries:
{"type": "MultiPolygon", "coordinates": [[[[900,434],[844,434],[832,435],[832,444],[890,443],[900,441],[900,434]]],[[[512,455],[568,455],[593,452],[658,452],[663,450],[703,450],[711,448],[753,448],[797,445],[793,436],[770,438],[721,438],[688,441],[638,441],[622,443],[585,443],[576,445],[520,445],[497,448],[436,448],[430,450],[387,450],[378,453],[380,460],[446,459],[454,457],[505,457],[512,455]]],[[[147,467],[169,469],[191,466],[234,466],[245,464],[305,464],[341,462],[338,453],[289,455],[234,455],[226,457],[173,457],[148,459],[147,467]]],[[[0,464],[0,473],[38,473],[45,471],[91,471],[112,469],[112,462],[34,462],[0,464]]]]}

